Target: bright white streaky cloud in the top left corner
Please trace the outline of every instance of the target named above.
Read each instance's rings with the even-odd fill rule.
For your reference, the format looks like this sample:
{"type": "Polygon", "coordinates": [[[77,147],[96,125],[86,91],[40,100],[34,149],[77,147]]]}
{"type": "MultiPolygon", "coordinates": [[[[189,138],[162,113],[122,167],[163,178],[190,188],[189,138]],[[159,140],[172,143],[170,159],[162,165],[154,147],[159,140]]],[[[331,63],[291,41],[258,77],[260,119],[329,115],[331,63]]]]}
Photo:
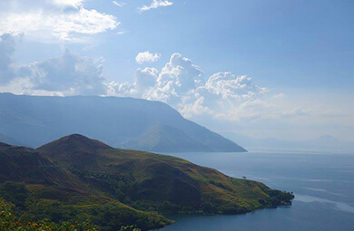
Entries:
{"type": "Polygon", "coordinates": [[[110,14],[87,10],[84,0],[11,0],[0,3],[0,34],[24,33],[36,41],[83,42],[88,35],[115,29],[120,23],[110,14]],[[24,10],[25,9],[25,10],[24,10]]]}

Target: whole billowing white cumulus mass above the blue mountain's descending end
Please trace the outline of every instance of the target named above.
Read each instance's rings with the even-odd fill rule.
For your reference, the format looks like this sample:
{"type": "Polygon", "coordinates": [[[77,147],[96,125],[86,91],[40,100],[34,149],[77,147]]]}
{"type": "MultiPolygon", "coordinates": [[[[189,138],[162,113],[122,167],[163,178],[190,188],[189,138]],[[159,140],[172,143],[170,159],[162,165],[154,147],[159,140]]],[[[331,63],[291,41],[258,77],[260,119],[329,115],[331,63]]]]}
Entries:
{"type": "Polygon", "coordinates": [[[181,53],[173,53],[162,70],[138,69],[133,83],[111,82],[109,89],[113,95],[164,101],[187,118],[208,114],[222,120],[255,118],[255,108],[264,107],[261,98],[269,92],[250,77],[231,72],[205,78],[202,68],[181,53]]]}

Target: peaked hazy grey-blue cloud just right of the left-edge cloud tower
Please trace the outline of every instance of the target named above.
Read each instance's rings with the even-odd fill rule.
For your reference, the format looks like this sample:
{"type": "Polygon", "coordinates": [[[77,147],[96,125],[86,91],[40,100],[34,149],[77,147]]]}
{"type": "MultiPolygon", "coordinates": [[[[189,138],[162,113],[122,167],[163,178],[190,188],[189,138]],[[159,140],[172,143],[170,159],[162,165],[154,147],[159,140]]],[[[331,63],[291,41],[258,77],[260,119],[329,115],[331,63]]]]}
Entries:
{"type": "Polygon", "coordinates": [[[64,94],[105,94],[101,61],[65,50],[62,57],[22,66],[19,77],[31,84],[27,91],[61,91],[64,94]]]}

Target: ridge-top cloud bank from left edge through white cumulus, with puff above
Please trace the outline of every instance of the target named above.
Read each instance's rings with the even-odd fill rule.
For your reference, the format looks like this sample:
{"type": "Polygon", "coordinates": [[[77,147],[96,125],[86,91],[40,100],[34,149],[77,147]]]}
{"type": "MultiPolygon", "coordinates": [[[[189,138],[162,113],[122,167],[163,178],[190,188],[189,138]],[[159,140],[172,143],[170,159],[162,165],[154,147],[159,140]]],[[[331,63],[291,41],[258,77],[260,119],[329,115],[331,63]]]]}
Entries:
{"type": "MultiPolygon", "coordinates": [[[[0,40],[0,91],[36,95],[112,95],[163,101],[188,118],[208,114],[240,120],[254,117],[254,108],[266,107],[261,99],[269,90],[248,76],[218,72],[207,77],[202,68],[181,53],[173,53],[161,70],[139,68],[133,82],[106,82],[103,60],[66,49],[61,57],[17,66],[13,63],[15,36],[0,40]],[[250,112],[251,111],[251,112],[250,112]],[[234,115],[234,116],[230,116],[234,115]]],[[[158,53],[139,53],[138,63],[154,62],[158,53]]]]}

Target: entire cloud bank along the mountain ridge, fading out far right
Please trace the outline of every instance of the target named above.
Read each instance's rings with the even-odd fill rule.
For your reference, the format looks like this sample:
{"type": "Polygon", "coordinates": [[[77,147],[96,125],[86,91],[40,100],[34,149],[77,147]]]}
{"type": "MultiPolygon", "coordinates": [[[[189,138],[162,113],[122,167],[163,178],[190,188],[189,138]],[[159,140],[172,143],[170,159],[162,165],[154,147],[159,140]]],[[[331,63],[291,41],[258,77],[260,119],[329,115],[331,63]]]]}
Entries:
{"type": "Polygon", "coordinates": [[[327,118],[324,120],[327,122],[329,117],[337,120],[333,112],[311,108],[314,105],[309,110],[309,107],[304,109],[289,103],[286,95],[272,93],[249,76],[232,72],[207,75],[202,67],[181,53],[173,53],[161,69],[153,66],[138,68],[132,82],[107,82],[103,77],[102,58],[85,57],[68,49],[60,57],[16,65],[13,55],[20,36],[0,36],[0,91],[32,95],[123,96],[163,101],[184,117],[208,124],[211,128],[216,126],[214,129],[217,130],[221,130],[220,126],[225,126],[223,130],[230,130],[231,126],[236,126],[233,127],[235,129],[240,124],[248,124],[251,128],[251,124],[257,124],[254,130],[257,133],[264,123],[276,127],[280,122],[301,124],[311,121],[313,124],[323,118],[327,118]]]}

